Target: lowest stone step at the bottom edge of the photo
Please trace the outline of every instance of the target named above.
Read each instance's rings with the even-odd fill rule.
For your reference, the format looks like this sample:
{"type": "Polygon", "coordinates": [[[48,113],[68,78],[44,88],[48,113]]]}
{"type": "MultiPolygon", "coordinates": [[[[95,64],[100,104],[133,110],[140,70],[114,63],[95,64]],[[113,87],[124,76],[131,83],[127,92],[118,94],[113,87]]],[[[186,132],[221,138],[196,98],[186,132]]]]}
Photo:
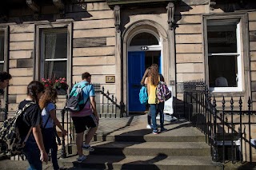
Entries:
{"type": "Polygon", "coordinates": [[[161,170],[221,170],[221,164],[212,163],[208,156],[105,156],[90,155],[82,163],[77,157],[60,160],[63,167],[75,169],[161,169],[161,170]]]}

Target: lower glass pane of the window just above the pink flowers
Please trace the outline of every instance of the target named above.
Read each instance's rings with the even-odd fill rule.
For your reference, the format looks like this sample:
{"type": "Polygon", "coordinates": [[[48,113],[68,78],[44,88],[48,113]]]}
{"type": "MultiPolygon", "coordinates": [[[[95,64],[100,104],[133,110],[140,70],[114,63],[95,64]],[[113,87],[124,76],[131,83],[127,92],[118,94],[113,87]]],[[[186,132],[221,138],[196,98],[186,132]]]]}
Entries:
{"type": "Polygon", "coordinates": [[[66,77],[66,61],[45,61],[44,77],[66,77]]]}

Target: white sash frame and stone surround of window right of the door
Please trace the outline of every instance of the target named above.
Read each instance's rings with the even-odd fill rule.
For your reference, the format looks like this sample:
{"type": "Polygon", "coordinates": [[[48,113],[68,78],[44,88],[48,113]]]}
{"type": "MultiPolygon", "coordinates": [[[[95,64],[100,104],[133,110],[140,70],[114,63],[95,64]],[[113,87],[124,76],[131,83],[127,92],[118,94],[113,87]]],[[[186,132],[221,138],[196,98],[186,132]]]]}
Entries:
{"type": "MultiPolygon", "coordinates": [[[[233,56],[237,56],[237,67],[238,67],[238,86],[237,87],[209,87],[210,92],[212,93],[230,93],[230,92],[238,92],[241,93],[243,91],[247,91],[249,89],[245,89],[245,82],[249,82],[249,80],[247,80],[245,74],[245,70],[244,68],[248,67],[248,65],[250,65],[250,61],[248,61],[248,58],[246,58],[246,56],[248,54],[246,54],[246,49],[248,48],[248,46],[246,47],[246,41],[248,41],[248,38],[246,38],[246,36],[248,36],[246,33],[246,26],[242,26],[245,25],[247,15],[246,14],[215,14],[215,15],[204,15],[203,16],[203,28],[204,28],[204,46],[205,46],[205,65],[206,65],[206,69],[205,69],[205,76],[206,76],[206,83],[209,86],[209,65],[208,65],[208,58],[210,56],[214,56],[214,55],[222,55],[222,56],[227,56],[227,55],[233,55],[233,56]],[[219,20],[219,21],[238,21],[237,24],[237,30],[236,30],[236,36],[237,36],[237,53],[208,53],[208,38],[207,38],[207,21],[209,20],[219,20]],[[243,48],[243,49],[242,49],[243,48]]],[[[214,22],[212,22],[211,24],[214,26],[214,22]],[[213,24],[212,24],[213,23],[213,24]]],[[[217,23],[217,22],[216,22],[217,23]]],[[[225,24],[223,24],[225,25],[225,24]]],[[[208,25],[209,26],[209,25],[208,25]]],[[[249,50],[249,49],[247,49],[249,50]]]]}

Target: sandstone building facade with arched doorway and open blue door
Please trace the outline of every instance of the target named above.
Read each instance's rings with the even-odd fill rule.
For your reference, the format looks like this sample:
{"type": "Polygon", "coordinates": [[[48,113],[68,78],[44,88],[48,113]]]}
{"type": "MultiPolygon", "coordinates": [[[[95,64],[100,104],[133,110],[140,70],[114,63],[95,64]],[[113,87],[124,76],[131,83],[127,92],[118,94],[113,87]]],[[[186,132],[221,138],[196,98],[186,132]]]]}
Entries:
{"type": "MultiPolygon", "coordinates": [[[[0,10],[0,68],[13,79],[8,109],[42,77],[71,85],[89,71],[128,112],[142,112],[139,81],[157,63],[182,112],[184,81],[256,107],[256,2],[220,0],[8,0],[0,10]],[[226,77],[228,85],[216,85],[226,77]]],[[[65,98],[59,97],[59,108],[65,98]]]]}

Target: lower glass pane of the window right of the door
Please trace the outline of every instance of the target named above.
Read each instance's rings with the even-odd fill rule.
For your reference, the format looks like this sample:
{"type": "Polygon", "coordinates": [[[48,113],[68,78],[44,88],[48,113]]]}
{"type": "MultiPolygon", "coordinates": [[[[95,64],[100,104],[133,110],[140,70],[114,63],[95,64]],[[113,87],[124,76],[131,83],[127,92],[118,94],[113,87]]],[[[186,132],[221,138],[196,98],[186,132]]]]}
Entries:
{"type": "Polygon", "coordinates": [[[210,56],[208,61],[210,87],[238,86],[237,56],[210,56]]]}

